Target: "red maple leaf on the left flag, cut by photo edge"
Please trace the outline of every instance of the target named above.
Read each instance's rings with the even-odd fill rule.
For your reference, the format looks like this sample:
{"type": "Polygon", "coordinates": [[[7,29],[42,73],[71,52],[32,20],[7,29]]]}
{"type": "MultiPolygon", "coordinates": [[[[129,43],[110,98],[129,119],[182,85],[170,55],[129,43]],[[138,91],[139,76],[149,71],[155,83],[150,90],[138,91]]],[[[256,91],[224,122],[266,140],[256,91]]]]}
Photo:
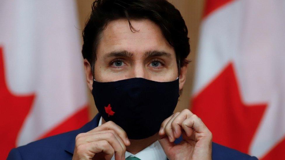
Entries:
{"type": "Polygon", "coordinates": [[[3,48],[0,47],[0,159],[6,159],[9,151],[16,147],[22,124],[34,101],[34,94],[15,95],[6,85],[3,48]]]}

